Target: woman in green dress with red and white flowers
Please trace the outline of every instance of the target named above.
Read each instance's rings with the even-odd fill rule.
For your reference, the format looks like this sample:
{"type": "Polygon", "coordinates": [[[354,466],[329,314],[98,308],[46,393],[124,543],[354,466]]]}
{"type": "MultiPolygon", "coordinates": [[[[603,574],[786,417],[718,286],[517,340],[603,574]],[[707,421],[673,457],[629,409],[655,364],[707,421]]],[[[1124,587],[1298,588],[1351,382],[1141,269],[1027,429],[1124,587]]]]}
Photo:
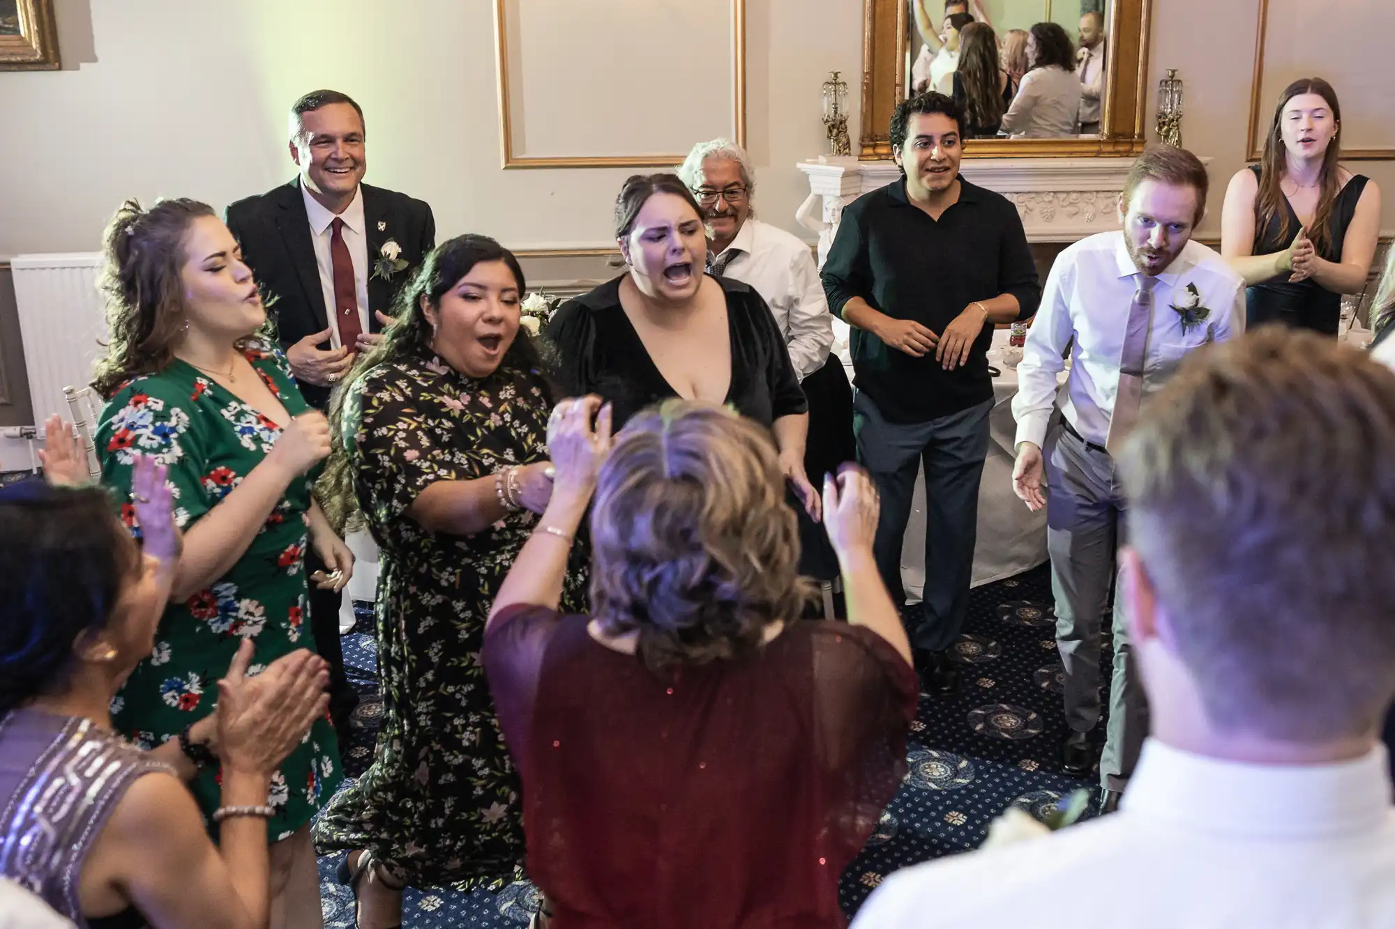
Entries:
{"type": "MultiPolygon", "coordinates": [[[[257,338],[266,311],[213,211],[128,202],[107,230],[106,261],[110,346],[93,381],[107,398],[96,434],[102,481],[140,534],[133,469],[137,455],[155,458],[184,533],[153,654],[113,702],[117,730],[151,748],[215,711],[218,677],[244,639],[257,649],[252,671],[314,650],[306,547],[339,572],[322,584],[342,586],[353,557],[310,495],[328,423],[308,410],[275,343],[257,338]]],[[[338,757],[326,716],[272,777],[264,802],[273,810],[273,928],[321,925],[308,823],[340,781],[338,757]]],[[[190,784],[205,816],[219,781],[209,764],[190,784]]]]}

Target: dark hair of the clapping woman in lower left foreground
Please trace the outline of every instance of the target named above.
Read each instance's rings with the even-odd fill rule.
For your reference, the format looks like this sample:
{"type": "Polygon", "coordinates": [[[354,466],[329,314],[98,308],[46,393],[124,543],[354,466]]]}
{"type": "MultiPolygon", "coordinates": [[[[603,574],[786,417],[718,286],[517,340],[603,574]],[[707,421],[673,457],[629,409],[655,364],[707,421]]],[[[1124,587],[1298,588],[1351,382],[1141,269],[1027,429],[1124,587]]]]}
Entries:
{"type": "Polygon", "coordinates": [[[106,626],[138,569],[106,491],[0,490],[0,716],[67,686],[74,643],[106,626]]]}

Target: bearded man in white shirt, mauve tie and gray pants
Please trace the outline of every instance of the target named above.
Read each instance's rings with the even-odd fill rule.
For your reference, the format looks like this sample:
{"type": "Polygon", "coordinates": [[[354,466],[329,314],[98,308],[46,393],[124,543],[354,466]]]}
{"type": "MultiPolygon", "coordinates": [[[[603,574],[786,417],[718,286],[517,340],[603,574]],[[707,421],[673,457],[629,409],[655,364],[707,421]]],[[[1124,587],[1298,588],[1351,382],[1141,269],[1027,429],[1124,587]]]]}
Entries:
{"type": "MultiPolygon", "coordinates": [[[[1119,197],[1123,229],[1077,241],[1056,258],[1017,367],[1013,490],[1031,509],[1046,506],[1070,727],[1062,764],[1076,776],[1088,774],[1094,762],[1101,618],[1123,541],[1126,505],[1113,455],[1145,398],[1189,352],[1244,328],[1244,282],[1219,254],[1191,241],[1208,187],[1207,169],[1191,152],[1144,152],[1119,197]],[[1059,391],[1067,346],[1073,367],[1059,391]]],[[[1115,597],[1113,644],[1099,760],[1103,812],[1119,802],[1148,732],[1122,597],[1115,597]]]]}

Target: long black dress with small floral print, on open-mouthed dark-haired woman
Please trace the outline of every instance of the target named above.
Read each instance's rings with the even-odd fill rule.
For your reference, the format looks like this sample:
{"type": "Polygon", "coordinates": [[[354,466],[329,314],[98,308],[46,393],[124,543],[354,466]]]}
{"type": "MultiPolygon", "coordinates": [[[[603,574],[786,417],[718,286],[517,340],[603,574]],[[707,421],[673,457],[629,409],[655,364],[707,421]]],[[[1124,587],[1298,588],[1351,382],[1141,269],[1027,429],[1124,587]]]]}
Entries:
{"type": "MultiPolygon", "coordinates": [[[[550,413],[536,372],[501,367],[474,379],[434,356],[386,361],[349,389],[345,448],[381,550],[384,717],[372,764],[315,822],[322,854],[368,848],[416,887],[492,889],[522,876],[520,787],[480,647],[537,516],[519,511],[474,536],[449,536],[427,531],[407,508],[437,481],[545,460],[550,413]]],[[[578,552],[564,611],[585,605],[583,586],[578,552]]]]}

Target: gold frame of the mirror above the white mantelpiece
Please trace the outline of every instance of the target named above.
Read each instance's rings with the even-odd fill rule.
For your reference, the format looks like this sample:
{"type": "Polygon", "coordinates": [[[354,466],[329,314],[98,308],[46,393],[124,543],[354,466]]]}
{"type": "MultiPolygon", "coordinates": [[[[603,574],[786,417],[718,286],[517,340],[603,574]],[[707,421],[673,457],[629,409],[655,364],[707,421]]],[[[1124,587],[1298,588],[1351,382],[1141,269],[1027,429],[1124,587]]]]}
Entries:
{"type": "MultiPolygon", "coordinates": [[[[1148,137],[1148,32],[1154,0],[1115,0],[1109,15],[1109,75],[1099,138],[974,139],[964,158],[1136,156],[1148,137]]],[[[1049,8],[1048,8],[1049,10],[1049,8]]],[[[905,98],[907,0],[862,0],[862,138],[858,158],[891,158],[891,113],[905,98]]]]}

